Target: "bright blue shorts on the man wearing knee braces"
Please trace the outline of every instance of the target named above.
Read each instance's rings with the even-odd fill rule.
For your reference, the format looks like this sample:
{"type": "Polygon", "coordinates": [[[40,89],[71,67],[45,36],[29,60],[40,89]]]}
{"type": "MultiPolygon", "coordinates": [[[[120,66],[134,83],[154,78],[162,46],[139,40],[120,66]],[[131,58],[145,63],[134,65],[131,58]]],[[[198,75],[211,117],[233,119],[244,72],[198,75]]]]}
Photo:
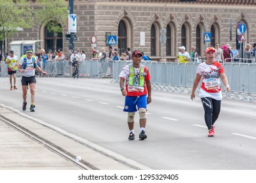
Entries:
{"type": "Polygon", "coordinates": [[[123,108],[123,111],[136,112],[139,108],[146,108],[146,95],[141,95],[139,97],[125,97],[125,107],[123,108]]]}

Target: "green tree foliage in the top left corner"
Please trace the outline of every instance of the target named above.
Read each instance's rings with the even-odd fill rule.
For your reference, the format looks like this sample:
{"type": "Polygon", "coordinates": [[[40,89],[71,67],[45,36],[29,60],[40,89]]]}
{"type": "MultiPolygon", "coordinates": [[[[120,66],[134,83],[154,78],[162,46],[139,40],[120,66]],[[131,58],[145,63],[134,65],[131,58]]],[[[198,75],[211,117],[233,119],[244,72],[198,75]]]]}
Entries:
{"type": "Polygon", "coordinates": [[[0,41],[11,37],[18,28],[32,27],[32,10],[27,0],[0,0],[0,41]]]}

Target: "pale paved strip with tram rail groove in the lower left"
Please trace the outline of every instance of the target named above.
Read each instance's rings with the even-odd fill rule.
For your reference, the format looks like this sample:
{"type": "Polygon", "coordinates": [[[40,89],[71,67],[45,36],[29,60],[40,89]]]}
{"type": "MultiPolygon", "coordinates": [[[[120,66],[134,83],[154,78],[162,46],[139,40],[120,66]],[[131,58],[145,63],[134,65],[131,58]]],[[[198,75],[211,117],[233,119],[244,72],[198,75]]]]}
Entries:
{"type": "Polygon", "coordinates": [[[1,104],[0,149],[0,170],[150,169],[1,104]]]}

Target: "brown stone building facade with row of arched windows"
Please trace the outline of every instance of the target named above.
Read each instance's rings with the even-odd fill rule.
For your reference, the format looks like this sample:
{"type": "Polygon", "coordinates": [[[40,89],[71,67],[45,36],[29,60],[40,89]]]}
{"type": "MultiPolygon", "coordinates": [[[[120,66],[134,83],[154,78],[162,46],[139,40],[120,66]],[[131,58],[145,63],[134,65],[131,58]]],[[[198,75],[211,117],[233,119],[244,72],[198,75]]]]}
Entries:
{"type": "MultiPolygon", "coordinates": [[[[68,1],[66,1],[68,7],[68,1]]],[[[36,2],[32,2],[32,7],[36,2]]],[[[206,46],[231,44],[241,46],[256,42],[256,1],[253,0],[197,0],[179,2],[179,0],[74,0],[74,14],[77,14],[77,40],[75,49],[85,50],[87,58],[92,55],[91,37],[95,35],[97,49],[105,47],[106,35],[116,35],[119,52],[127,47],[142,50],[147,56],[160,59],[175,58],[179,46],[196,46],[198,54],[203,56],[206,46]],[[237,26],[246,26],[245,41],[237,44],[240,34],[237,26]],[[167,40],[161,43],[166,31],[167,40]],[[211,42],[204,42],[203,33],[211,33],[211,42]],[[231,35],[230,35],[231,33],[231,35]]],[[[68,52],[66,40],[67,27],[62,25],[61,46],[68,52]]],[[[11,41],[41,40],[41,47],[47,48],[44,25],[34,25],[7,39],[7,48],[11,41]]],[[[239,48],[239,47],[238,47],[239,48]]],[[[108,49],[106,49],[108,50],[108,49]]]]}

